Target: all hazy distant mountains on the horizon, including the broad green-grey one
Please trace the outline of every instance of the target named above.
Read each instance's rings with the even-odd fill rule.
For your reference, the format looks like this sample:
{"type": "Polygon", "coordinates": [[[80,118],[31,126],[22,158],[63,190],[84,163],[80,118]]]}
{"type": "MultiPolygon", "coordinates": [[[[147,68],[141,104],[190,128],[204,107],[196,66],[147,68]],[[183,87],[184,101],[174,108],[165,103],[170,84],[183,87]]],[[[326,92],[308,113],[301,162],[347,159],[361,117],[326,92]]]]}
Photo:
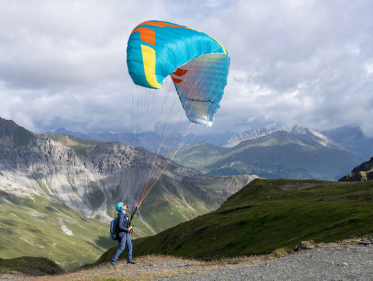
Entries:
{"type": "MultiPolygon", "coordinates": [[[[64,129],[59,129],[55,133],[59,132],[82,136],[82,133],[68,132],[64,129]]],[[[135,136],[129,133],[111,134],[106,132],[101,134],[90,133],[87,137],[104,141],[115,139],[118,142],[131,143],[133,139],[137,139],[136,142],[140,142],[139,139],[142,135],[135,136]]],[[[157,147],[157,145],[154,145],[156,139],[160,139],[160,136],[149,133],[146,139],[149,140],[147,142],[149,145],[145,146],[154,150],[154,147],[157,147]]],[[[278,142],[282,143],[283,140],[278,140],[278,142]]],[[[293,128],[284,127],[274,130],[261,128],[239,134],[228,131],[222,134],[200,135],[194,137],[193,141],[183,148],[182,152],[175,155],[173,159],[184,166],[197,168],[203,173],[209,173],[209,175],[254,173],[266,178],[290,177],[338,180],[349,173],[354,166],[363,162],[364,159],[370,159],[372,155],[373,139],[365,137],[360,128],[343,126],[319,133],[309,128],[294,126],[293,128]],[[286,146],[278,146],[275,139],[278,137],[279,132],[285,132],[285,135],[288,133],[296,137],[297,141],[289,140],[286,146]],[[270,137],[273,134],[274,136],[270,137]],[[271,144],[259,144],[258,139],[261,137],[272,139],[271,144]],[[250,140],[256,142],[256,144],[252,144],[250,148],[247,148],[248,150],[240,148],[243,142],[250,140]],[[198,144],[198,141],[207,141],[213,146],[205,143],[198,144]],[[293,142],[293,144],[290,144],[290,142],[293,142]],[[303,146],[296,145],[297,142],[298,144],[303,144],[303,146]],[[289,148],[289,146],[294,147],[289,148]],[[227,155],[232,155],[227,157],[224,154],[224,150],[219,147],[231,148],[231,152],[227,153],[227,155]],[[282,151],[284,148],[285,151],[289,149],[286,155],[282,151]],[[314,153],[312,153],[311,148],[315,150],[314,153]],[[193,149],[195,149],[194,152],[192,152],[193,149]],[[326,152],[324,153],[325,150],[326,152]],[[243,162],[246,162],[246,164],[236,161],[236,157],[238,157],[237,155],[240,152],[236,155],[233,151],[245,151],[247,158],[243,162]],[[260,154],[256,155],[256,153],[260,153],[265,157],[261,157],[260,154]],[[305,153],[305,155],[302,155],[302,153],[305,153]],[[189,157],[188,154],[193,155],[193,157],[189,157]],[[221,154],[224,154],[225,157],[222,157],[221,154]],[[220,156],[217,157],[218,155],[220,156]]]]}

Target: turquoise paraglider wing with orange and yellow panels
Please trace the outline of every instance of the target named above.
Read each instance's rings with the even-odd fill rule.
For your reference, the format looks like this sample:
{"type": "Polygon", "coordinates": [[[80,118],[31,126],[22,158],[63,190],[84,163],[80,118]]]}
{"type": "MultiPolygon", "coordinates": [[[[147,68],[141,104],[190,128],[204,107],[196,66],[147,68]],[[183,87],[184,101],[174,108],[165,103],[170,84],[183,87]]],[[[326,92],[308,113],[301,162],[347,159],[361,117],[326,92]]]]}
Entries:
{"type": "Polygon", "coordinates": [[[137,85],[160,89],[171,75],[188,119],[211,126],[227,84],[229,55],[198,30],[165,21],[145,21],[128,39],[128,72],[137,85]]]}

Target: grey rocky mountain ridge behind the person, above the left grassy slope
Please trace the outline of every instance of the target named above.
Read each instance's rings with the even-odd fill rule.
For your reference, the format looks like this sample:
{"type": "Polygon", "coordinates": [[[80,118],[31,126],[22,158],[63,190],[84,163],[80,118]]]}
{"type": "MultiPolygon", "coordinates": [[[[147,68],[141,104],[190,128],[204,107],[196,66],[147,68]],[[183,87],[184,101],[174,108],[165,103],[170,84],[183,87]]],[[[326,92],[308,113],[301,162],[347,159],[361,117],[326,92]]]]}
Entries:
{"type": "MultiPolygon", "coordinates": [[[[119,142],[84,144],[66,136],[53,140],[0,121],[0,191],[17,198],[47,196],[84,217],[110,220],[113,205],[131,205],[139,179],[164,166],[164,157],[143,148],[119,142]]],[[[144,222],[140,233],[157,233],[216,209],[255,177],[211,177],[170,162],[139,209],[144,222]]]]}

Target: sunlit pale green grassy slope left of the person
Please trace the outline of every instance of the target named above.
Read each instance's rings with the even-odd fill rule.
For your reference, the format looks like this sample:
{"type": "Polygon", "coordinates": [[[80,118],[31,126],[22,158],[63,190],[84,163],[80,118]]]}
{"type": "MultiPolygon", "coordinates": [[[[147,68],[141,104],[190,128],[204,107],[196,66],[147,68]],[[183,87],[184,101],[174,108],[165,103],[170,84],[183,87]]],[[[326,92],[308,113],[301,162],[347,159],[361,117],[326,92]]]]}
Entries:
{"type": "Polygon", "coordinates": [[[1,258],[44,256],[64,269],[72,269],[82,260],[93,262],[115,245],[109,239],[108,224],[86,219],[46,197],[23,199],[22,204],[18,200],[8,198],[0,205],[1,258]],[[72,236],[64,233],[61,222],[72,236]]]}

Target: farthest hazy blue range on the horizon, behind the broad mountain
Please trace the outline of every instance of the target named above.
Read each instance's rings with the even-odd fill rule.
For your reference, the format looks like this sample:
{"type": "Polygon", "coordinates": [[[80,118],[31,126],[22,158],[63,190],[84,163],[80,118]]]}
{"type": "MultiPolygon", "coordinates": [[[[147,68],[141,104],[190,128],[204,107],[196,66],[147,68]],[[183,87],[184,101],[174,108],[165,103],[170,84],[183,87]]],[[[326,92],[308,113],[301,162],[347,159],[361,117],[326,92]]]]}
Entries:
{"type": "MultiPolygon", "coordinates": [[[[323,142],[321,139],[324,139],[325,142],[329,142],[330,145],[339,145],[345,148],[347,151],[355,153],[358,157],[362,159],[370,159],[373,156],[373,138],[365,137],[363,132],[358,127],[342,126],[338,128],[333,128],[331,130],[323,130],[318,133],[317,130],[312,130],[309,128],[302,128],[295,126],[294,128],[278,128],[274,130],[269,130],[267,128],[260,128],[255,130],[248,130],[243,133],[236,133],[233,131],[227,131],[224,133],[214,133],[207,135],[192,135],[189,137],[190,142],[187,145],[196,144],[198,142],[207,141],[216,146],[222,147],[233,147],[240,142],[249,139],[256,139],[258,137],[264,137],[278,130],[285,130],[289,133],[297,135],[298,137],[303,137],[307,135],[307,132],[302,132],[302,130],[307,130],[308,136],[312,135],[318,136],[318,139],[323,142]]],[[[160,139],[163,138],[161,135],[156,133],[109,133],[109,132],[99,132],[99,133],[88,133],[84,134],[82,132],[72,132],[66,130],[65,128],[59,128],[54,132],[47,132],[51,134],[65,134],[73,135],[74,137],[82,139],[92,139],[99,142],[123,142],[131,146],[137,147],[139,144],[144,146],[144,148],[151,152],[157,152],[157,149],[160,147],[160,139]]],[[[178,144],[182,135],[169,136],[166,141],[163,142],[164,150],[169,150],[168,144],[178,144]]],[[[162,150],[162,151],[164,151],[162,150]]],[[[161,151],[161,152],[162,152],[161,151]]]]}

